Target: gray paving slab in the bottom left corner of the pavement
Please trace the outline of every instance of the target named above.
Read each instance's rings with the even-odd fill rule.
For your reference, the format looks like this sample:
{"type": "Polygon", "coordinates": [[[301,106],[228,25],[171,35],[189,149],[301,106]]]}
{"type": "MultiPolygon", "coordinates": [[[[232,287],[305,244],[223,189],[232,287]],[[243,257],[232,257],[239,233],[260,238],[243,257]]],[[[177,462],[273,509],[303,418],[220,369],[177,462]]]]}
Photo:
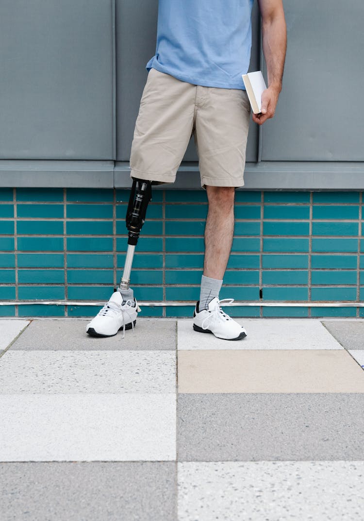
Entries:
{"type": "Polygon", "coordinates": [[[0,464],[2,521],[177,521],[173,462],[0,464]]]}

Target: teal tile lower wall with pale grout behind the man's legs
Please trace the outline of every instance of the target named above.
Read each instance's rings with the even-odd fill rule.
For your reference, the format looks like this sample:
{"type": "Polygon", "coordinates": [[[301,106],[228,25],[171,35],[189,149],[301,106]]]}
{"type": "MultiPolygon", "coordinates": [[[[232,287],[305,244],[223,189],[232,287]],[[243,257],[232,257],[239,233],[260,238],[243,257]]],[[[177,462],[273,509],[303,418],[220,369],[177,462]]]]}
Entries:
{"type": "MultiPolygon", "coordinates": [[[[0,189],[0,300],[11,304],[0,315],[93,316],[97,306],[27,302],[108,299],[124,266],[128,200],[128,190],[0,189]]],[[[232,316],[364,316],[355,306],[364,302],[362,193],[237,191],[235,203],[220,297],[253,305],[232,316]],[[278,305],[261,305],[270,301],[278,305]],[[321,304],[335,301],[354,306],[321,304]]],[[[131,286],[139,301],[186,304],[144,306],[141,316],[191,316],[207,210],[203,190],[154,189],[131,286]]]]}

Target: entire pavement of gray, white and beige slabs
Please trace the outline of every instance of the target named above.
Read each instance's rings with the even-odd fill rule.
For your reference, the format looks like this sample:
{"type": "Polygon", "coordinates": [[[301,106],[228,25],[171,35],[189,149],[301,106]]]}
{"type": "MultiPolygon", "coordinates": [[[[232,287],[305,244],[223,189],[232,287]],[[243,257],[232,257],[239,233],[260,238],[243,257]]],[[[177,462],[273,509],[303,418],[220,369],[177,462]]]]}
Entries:
{"type": "Polygon", "coordinates": [[[364,519],[364,320],[0,320],[2,521],[364,519]]]}

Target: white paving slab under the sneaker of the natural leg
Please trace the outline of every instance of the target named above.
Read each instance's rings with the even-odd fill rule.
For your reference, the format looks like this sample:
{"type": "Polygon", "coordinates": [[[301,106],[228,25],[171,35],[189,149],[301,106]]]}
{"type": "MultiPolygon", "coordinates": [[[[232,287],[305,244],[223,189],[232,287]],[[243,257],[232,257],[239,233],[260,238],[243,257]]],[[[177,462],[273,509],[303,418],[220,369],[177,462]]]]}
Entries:
{"type": "MultiPolygon", "coordinates": [[[[229,308],[226,310],[229,313],[229,308]]],[[[178,349],[339,349],[338,343],[316,319],[237,318],[247,337],[236,342],[193,330],[192,319],[178,320],[178,349]]]]}

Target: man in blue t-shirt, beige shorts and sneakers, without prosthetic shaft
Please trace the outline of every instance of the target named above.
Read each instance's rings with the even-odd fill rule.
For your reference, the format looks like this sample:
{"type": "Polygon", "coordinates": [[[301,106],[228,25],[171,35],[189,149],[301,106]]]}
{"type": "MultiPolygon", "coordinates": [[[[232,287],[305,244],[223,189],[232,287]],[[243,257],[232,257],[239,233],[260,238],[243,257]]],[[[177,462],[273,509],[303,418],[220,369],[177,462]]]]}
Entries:
{"type": "MultiPolygon", "coordinates": [[[[262,125],[274,115],[282,89],[286,26],[282,0],[258,0],[268,88],[262,125]]],[[[246,337],[225,314],[219,291],[234,230],[235,189],[244,185],[250,105],[242,80],[248,70],[253,0],[159,0],[156,54],[148,61],[131,148],[131,178],[171,183],[191,135],[207,192],[205,260],[193,328],[226,340],[246,337]]],[[[112,336],[135,324],[131,289],[115,292],[87,325],[93,336],[112,336]]]]}

